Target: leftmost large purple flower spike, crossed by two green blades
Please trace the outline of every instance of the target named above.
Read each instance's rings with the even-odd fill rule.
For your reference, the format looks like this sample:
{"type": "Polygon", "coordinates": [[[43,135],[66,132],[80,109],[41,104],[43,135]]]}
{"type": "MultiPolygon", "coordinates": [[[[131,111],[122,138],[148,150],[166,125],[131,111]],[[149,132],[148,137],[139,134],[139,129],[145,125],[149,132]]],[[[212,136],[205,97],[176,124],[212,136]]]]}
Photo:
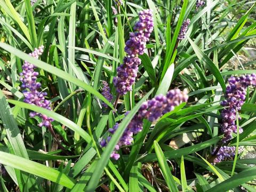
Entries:
{"type": "MultiPolygon", "coordinates": [[[[34,52],[29,53],[31,57],[38,59],[39,56],[43,53],[44,46],[42,45],[38,49],[35,49],[34,52]]],[[[36,105],[38,107],[43,107],[45,109],[51,110],[51,102],[45,99],[47,95],[46,92],[38,91],[41,88],[41,83],[36,82],[38,72],[34,71],[35,66],[27,61],[24,62],[22,66],[22,73],[20,73],[20,81],[22,82],[21,88],[23,89],[23,94],[25,99],[23,100],[26,103],[31,105],[36,105]]],[[[42,118],[42,123],[39,124],[40,127],[46,126],[49,127],[52,118],[47,117],[46,115],[39,114],[36,112],[30,112],[30,117],[39,116],[42,118]]]]}

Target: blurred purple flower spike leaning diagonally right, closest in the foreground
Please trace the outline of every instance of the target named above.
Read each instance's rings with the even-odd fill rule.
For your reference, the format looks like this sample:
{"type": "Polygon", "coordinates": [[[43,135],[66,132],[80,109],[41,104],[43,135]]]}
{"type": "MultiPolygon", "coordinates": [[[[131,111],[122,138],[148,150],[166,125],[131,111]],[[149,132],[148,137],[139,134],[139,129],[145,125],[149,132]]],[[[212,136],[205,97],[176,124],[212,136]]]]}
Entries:
{"type": "MultiPolygon", "coordinates": [[[[133,135],[141,132],[143,127],[143,119],[148,119],[150,122],[156,121],[159,117],[168,113],[174,109],[175,106],[180,105],[182,102],[187,102],[188,95],[187,90],[183,92],[179,89],[170,90],[165,95],[157,95],[155,98],[144,102],[138,113],[133,117],[132,121],[127,126],[124,131],[121,139],[117,143],[115,150],[111,154],[111,157],[114,159],[119,158],[119,154],[117,150],[119,150],[122,146],[131,145],[133,141],[133,135]]],[[[127,113],[125,114],[127,115],[127,113]]],[[[109,129],[109,133],[114,134],[118,129],[118,124],[116,124],[113,128],[109,129]]],[[[103,139],[100,142],[102,147],[105,147],[111,137],[108,137],[107,140],[103,139]]]]}

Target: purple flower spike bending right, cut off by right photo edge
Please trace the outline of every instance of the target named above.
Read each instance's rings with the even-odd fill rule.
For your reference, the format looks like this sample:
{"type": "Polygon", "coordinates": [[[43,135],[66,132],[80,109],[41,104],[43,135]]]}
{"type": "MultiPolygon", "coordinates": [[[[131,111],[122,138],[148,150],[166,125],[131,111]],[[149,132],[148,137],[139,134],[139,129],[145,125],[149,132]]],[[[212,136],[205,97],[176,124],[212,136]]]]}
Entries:
{"type": "MultiPolygon", "coordinates": [[[[246,75],[241,77],[230,77],[228,79],[229,85],[226,89],[225,100],[220,105],[227,107],[221,111],[222,124],[221,131],[224,133],[223,142],[232,138],[232,133],[236,133],[236,111],[240,111],[246,97],[246,88],[250,85],[256,86],[256,75],[246,75]]],[[[238,119],[241,117],[238,116],[238,119]]],[[[239,133],[243,129],[239,127],[239,133]]]]}

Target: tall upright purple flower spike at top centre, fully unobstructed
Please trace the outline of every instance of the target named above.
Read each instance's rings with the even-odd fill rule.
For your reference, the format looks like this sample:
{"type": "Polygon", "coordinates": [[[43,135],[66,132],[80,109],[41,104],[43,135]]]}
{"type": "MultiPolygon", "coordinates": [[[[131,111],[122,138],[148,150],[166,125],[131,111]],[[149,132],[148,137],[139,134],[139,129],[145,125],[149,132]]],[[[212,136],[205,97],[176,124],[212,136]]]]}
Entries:
{"type": "Polygon", "coordinates": [[[132,84],[138,73],[138,66],[141,60],[139,55],[143,54],[146,49],[146,42],[149,41],[153,31],[153,14],[151,10],[143,10],[139,13],[139,21],[134,26],[134,33],[130,33],[130,38],[126,42],[124,63],[117,68],[117,77],[114,78],[116,91],[124,95],[132,90],[132,84]]]}

